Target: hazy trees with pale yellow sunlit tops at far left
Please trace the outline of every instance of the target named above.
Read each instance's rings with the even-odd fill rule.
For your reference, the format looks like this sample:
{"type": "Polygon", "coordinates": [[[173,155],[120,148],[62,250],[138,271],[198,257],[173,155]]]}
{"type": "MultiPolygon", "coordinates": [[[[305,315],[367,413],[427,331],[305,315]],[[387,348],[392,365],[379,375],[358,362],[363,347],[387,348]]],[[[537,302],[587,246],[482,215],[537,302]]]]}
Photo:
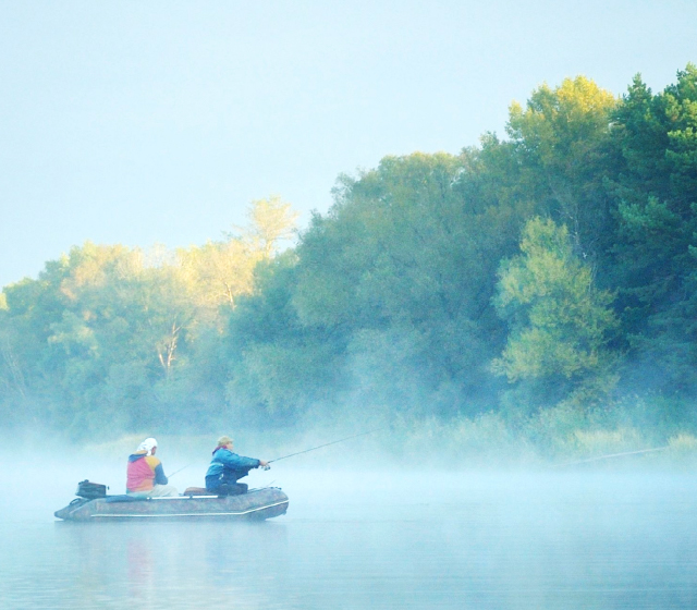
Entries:
{"type": "Polygon", "coordinates": [[[204,406],[224,404],[225,380],[207,375],[227,369],[219,308],[252,291],[254,267],[292,219],[276,199],[255,202],[250,215],[272,230],[253,224],[240,237],[178,253],[87,242],[47,264],[39,280],[7,286],[1,407],[45,402],[44,423],[72,437],[215,419],[204,406]]]}

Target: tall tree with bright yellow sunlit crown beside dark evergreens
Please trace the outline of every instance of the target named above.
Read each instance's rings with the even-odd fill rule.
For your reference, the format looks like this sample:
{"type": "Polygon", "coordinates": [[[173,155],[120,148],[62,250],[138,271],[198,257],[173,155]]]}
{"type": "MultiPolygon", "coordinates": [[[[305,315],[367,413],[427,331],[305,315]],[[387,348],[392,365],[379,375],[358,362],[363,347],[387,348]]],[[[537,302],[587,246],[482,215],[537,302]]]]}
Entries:
{"type": "Polygon", "coordinates": [[[525,109],[511,105],[506,131],[534,175],[530,196],[570,229],[577,254],[595,260],[607,249],[612,217],[603,178],[611,112],[617,100],[592,81],[565,78],[535,90],[525,109]]]}

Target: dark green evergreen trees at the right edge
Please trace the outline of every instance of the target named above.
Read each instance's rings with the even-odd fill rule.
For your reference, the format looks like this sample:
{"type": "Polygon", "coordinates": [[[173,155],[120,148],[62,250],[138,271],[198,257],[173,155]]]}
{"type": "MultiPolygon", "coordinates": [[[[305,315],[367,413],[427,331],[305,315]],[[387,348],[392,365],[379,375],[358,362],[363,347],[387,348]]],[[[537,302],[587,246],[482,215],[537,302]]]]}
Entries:
{"type": "Polygon", "coordinates": [[[634,388],[695,393],[697,304],[697,68],[657,95],[635,76],[613,112],[617,167],[609,192],[617,228],[608,283],[634,388]]]}

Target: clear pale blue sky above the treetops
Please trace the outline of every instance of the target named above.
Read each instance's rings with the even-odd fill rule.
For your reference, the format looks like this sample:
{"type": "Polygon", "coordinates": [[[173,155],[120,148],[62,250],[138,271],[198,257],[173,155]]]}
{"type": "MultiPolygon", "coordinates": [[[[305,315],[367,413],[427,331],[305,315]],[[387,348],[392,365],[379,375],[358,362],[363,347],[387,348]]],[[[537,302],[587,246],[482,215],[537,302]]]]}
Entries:
{"type": "Polygon", "coordinates": [[[579,74],[697,62],[693,0],[0,0],[0,286],[85,241],[204,244],[280,195],[504,135],[579,74]]]}

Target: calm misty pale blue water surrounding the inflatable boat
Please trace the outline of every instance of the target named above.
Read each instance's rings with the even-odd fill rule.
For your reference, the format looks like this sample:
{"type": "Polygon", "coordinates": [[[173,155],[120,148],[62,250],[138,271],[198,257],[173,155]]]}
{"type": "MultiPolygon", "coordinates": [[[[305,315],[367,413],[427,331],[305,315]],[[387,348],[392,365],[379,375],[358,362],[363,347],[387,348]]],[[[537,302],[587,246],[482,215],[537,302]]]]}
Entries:
{"type": "Polygon", "coordinates": [[[259,524],[57,522],[75,481],[7,479],[0,607],[697,608],[694,475],[274,476],[259,524]]]}

